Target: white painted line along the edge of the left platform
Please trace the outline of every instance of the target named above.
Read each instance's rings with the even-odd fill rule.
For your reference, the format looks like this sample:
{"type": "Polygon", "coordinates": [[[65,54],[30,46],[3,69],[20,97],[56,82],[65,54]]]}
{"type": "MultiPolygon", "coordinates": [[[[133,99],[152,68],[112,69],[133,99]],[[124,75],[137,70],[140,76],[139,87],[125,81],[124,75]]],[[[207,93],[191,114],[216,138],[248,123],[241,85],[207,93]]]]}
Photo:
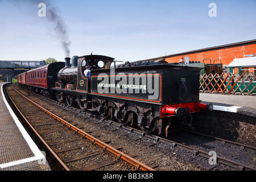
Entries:
{"type": "MultiPolygon", "coordinates": [[[[3,84],[4,85],[4,84],[3,84]]],[[[39,150],[38,146],[34,143],[34,141],[31,139],[30,135],[28,135],[27,131],[24,129],[22,126],[22,123],[20,123],[19,119],[16,117],[14,114],[14,111],[11,109],[10,105],[6,101],[5,94],[3,93],[3,85],[1,87],[1,92],[2,92],[2,98],[3,101],[5,102],[5,105],[7,106],[7,109],[9,110],[11,116],[14,119],[14,122],[19,128],[20,133],[22,133],[24,139],[26,140],[28,146],[30,146],[31,151],[35,155],[32,158],[26,158],[26,159],[21,159],[21,160],[16,160],[14,162],[9,162],[5,164],[0,164],[0,168],[5,168],[5,167],[10,167],[10,166],[15,166],[17,164],[22,164],[22,163],[27,163],[27,162],[32,162],[34,160],[44,160],[46,161],[46,157],[43,155],[43,153],[39,150]]]]}

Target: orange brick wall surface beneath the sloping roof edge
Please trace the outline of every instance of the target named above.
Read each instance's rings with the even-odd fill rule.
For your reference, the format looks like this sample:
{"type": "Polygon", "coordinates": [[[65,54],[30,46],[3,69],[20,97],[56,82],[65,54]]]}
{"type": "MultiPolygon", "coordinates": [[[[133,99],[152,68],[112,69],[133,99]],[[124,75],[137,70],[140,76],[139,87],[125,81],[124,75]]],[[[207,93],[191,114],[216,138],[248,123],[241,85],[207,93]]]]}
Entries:
{"type": "MultiPolygon", "coordinates": [[[[241,58],[243,57],[243,55],[250,55],[250,54],[256,55],[256,43],[245,44],[243,46],[232,46],[232,47],[226,47],[226,48],[198,51],[194,53],[188,53],[186,55],[166,57],[165,60],[168,63],[177,63],[181,59],[181,56],[183,56],[183,58],[185,56],[188,56],[189,60],[200,61],[201,63],[203,63],[203,59],[209,58],[212,60],[212,63],[216,59],[221,59],[222,65],[225,65],[225,64],[231,63],[235,58],[241,58]]],[[[209,64],[210,60],[205,60],[205,63],[209,64]]],[[[220,63],[220,61],[216,61],[216,63],[220,63]]]]}

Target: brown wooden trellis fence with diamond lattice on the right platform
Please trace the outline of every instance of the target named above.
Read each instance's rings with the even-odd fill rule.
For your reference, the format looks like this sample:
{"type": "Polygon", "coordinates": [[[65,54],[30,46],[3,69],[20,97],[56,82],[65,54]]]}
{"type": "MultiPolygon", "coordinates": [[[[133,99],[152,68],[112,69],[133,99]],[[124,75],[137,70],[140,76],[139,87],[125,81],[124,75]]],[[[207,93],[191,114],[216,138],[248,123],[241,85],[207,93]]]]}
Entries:
{"type": "Polygon", "coordinates": [[[256,95],[256,76],[252,72],[200,75],[202,93],[256,95]]]}

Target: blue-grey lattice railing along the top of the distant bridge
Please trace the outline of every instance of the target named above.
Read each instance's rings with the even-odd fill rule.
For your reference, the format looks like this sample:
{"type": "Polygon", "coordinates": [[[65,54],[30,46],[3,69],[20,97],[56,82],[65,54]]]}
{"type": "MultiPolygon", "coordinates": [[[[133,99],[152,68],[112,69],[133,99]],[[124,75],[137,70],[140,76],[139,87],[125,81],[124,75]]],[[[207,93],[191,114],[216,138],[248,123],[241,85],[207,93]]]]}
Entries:
{"type": "Polygon", "coordinates": [[[0,68],[38,68],[46,61],[0,61],[0,68]]]}

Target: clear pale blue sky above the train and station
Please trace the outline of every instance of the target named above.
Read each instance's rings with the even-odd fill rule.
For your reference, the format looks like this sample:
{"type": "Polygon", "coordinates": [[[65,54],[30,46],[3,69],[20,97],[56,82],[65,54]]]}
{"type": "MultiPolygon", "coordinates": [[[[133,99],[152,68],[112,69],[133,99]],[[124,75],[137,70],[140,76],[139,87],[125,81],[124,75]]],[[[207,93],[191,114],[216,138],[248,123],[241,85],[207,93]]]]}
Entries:
{"type": "Polygon", "coordinates": [[[67,27],[71,57],[137,61],[256,39],[256,0],[0,0],[0,60],[64,61],[54,26],[38,3],[55,7],[67,27]],[[49,5],[48,2],[51,2],[49,5]],[[210,17],[210,3],[217,16],[210,17]]]}

